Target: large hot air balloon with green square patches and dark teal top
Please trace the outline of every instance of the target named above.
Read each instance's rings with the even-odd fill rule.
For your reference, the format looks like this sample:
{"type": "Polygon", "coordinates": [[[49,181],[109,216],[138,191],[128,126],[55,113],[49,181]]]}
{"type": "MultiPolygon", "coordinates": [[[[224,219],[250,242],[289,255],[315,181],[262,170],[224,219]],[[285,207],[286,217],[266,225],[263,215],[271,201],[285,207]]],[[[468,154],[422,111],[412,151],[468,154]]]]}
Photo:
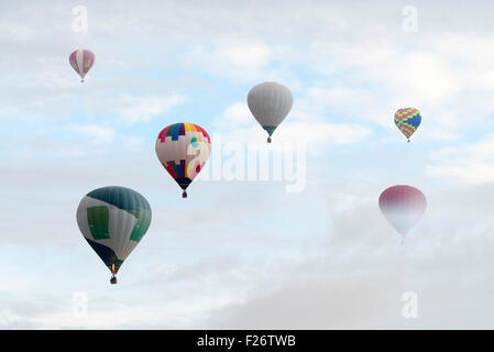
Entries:
{"type": "Polygon", "coordinates": [[[84,238],[108,266],[117,284],[117,273],[138,245],[151,223],[151,207],[135,190],[102,187],[88,193],[77,208],[77,224],[84,238]]]}

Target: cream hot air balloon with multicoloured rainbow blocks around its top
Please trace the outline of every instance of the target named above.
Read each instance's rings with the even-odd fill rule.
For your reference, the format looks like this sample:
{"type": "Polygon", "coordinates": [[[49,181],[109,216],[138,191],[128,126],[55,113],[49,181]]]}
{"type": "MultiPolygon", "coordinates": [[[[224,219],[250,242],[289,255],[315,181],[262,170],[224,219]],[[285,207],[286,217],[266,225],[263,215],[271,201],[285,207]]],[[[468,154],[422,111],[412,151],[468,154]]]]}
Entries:
{"type": "Polygon", "coordinates": [[[194,123],[174,123],[160,132],[156,155],[187,198],[187,187],[199,174],[211,152],[208,132],[194,123]]]}

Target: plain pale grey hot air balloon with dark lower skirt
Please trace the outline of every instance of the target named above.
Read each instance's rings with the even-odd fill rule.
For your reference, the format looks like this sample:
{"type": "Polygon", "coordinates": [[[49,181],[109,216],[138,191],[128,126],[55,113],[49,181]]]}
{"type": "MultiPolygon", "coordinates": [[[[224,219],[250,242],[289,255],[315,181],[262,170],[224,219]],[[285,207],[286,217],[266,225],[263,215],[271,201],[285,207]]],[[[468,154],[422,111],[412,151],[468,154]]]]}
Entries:
{"type": "Polygon", "coordinates": [[[267,143],[271,143],[271,135],[286,118],[293,103],[294,98],[289,89],[274,81],[260,84],[249,91],[249,109],[266,130],[267,143]]]}

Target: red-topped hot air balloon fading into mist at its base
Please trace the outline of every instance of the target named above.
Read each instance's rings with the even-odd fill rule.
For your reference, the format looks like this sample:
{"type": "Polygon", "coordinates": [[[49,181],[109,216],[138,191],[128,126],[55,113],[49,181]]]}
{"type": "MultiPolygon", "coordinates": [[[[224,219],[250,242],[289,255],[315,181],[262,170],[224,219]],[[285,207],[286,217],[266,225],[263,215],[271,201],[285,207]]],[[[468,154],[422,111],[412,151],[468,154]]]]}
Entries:
{"type": "Polygon", "coordinates": [[[405,238],[426,211],[427,200],[419,189],[398,185],[381,194],[380,208],[386,220],[405,238]]]}

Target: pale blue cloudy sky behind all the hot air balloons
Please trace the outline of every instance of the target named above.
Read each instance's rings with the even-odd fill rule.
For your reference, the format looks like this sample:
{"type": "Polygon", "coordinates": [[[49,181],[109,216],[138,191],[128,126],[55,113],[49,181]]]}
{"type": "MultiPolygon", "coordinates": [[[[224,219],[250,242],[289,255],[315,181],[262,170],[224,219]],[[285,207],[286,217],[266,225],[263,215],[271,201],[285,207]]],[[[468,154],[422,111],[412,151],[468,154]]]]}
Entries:
{"type": "Polygon", "coordinates": [[[0,328],[493,328],[494,4],[468,3],[1,1],[0,328]],[[246,107],[268,80],[294,95],[270,146],[246,107]],[[154,152],[180,121],[213,138],[186,200],[154,152]],[[404,246],[397,184],[428,200],[404,246]],[[153,209],[116,286],[75,218],[109,185],[153,209]]]}

